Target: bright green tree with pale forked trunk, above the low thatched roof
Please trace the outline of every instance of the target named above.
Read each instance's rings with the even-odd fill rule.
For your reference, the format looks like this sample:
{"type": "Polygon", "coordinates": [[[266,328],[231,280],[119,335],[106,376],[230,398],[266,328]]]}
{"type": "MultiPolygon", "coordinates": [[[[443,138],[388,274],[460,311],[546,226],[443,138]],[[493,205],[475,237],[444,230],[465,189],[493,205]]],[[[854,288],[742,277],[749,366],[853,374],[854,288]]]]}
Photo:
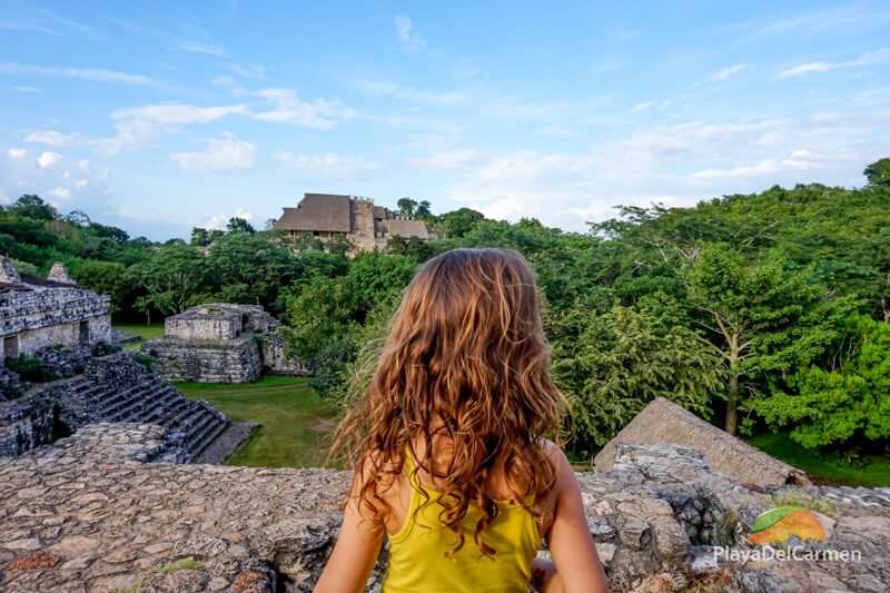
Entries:
{"type": "Polygon", "coordinates": [[[725,429],[733,435],[745,387],[768,396],[758,394],[753,379],[783,377],[819,356],[849,307],[812,281],[811,273],[790,269],[783,257],[750,259],[726,244],[702,247],[684,279],[698,323],[726,367],[725,429]]]}

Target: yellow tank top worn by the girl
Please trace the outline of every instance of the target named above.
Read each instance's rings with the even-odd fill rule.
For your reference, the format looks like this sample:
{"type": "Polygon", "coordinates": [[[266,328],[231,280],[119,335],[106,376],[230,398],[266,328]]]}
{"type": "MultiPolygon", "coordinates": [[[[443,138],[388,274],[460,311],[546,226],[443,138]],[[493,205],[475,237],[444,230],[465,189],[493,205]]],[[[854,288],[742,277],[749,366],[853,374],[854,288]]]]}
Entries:
{"type": "MultiPolygon", "coordinates": [[[[405,453],[408,475],[414,470],[411,452],[405,453]]],[[[483,511],[471,503],[459,525],[464,546],[452,557],[455,535],[442,525],[438,514],[441,493],[421,484],[412,476],[411,505],[405,524],[389,535],[389,563],[383,581],[383,593],[498,591],[526,593],[532,576],[532,561],[541,547],[541,534],[535,517],[518,504],[497,501],[497,517],[483,532],[485,543],[496,550],[494,557],[482,554],[473,541],[476,523],[483,511]],[[415,510],[423,504],[419,491],[429,496],[417,518],[415,510]]]]}

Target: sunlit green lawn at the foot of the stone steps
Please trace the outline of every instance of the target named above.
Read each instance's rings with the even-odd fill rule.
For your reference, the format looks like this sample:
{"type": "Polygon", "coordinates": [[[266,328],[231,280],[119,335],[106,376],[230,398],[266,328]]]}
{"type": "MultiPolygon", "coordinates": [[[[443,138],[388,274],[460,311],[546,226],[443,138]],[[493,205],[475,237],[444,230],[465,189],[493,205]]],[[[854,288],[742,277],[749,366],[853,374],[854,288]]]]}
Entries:
{"type": "Polygon", "coordinates": [[[335,425],[336,406],[305,378],[261,377],[249,384],[175,383],[186,397],[206,399],[238,422],[259,426],[228,465],[319,467],[335,425]]]}

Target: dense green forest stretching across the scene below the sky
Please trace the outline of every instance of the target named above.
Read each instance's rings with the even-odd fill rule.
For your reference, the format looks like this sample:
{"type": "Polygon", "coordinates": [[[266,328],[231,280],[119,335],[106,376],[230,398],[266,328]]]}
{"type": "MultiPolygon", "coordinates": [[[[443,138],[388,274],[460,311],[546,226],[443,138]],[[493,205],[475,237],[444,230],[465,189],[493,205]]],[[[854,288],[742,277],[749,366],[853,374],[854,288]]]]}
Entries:
{"type": "Polygon", "coordinates": [[[347,257],[345,240],[195,229],[191,241],[131,239],[37,196],[0,210],[0,253],[46,273],[66,263],[117,315],[160,319],[207,302],[260,304],[293,353],[323,360],[315,387],[345,402],[417,266],[456,247],[507,247],[534,266],[571,448],[602,446],[657,396],[732,433],[790,431],[807,447],[890,443],[890,159],[860,189],[799,185],[692,208],[622,207],[587,233],[512,224],[467,208],[433,215],[443,239],[394,238],[347,257]]]}

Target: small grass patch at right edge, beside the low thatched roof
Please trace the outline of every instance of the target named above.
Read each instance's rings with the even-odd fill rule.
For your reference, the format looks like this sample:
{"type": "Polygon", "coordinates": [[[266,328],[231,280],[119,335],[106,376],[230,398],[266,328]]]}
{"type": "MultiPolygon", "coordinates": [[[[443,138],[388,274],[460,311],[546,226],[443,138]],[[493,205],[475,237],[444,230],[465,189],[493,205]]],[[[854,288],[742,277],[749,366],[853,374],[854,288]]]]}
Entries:
{"type": "Polygon", "coordinates": [[[820,483],[867,487],[890,486],[890,459],[881,455],[868,456],[869,464],[858,468],[820,459],[811,451],[791,441],[787,434],[762,434],[745,441],[749,445],[803,470],[820,483]]]}

